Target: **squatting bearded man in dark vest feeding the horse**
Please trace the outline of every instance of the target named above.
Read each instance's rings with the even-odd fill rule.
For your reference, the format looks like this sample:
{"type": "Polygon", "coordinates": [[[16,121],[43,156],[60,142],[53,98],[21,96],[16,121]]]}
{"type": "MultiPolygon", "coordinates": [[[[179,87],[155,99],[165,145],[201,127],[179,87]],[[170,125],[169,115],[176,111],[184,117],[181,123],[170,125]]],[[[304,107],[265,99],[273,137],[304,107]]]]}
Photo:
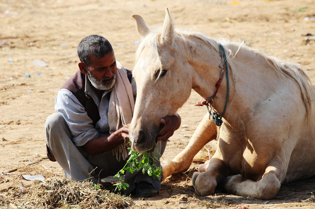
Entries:
{"type": "MultiPolygon", "coordinates": [[[[100,35],[83,38],[77,54],[79,71],[59,90],[54,105],[57,112],[45,124],[47,155],[59,163],[66,178],[98,183],[115,175],[128,159],[127,124],[134,112],[136,83],[100,35]]],[[[165,116],[161,124],[157,146],[162,155],[167,139],[180,126],[180,117],[165,116]]],[[[153,163],[161,167],[159,161],[153,163]]],[[[162,175],[153,179],[142,171],[127,171],[125,194],[155,196],[161,179],[162,175]]]]}

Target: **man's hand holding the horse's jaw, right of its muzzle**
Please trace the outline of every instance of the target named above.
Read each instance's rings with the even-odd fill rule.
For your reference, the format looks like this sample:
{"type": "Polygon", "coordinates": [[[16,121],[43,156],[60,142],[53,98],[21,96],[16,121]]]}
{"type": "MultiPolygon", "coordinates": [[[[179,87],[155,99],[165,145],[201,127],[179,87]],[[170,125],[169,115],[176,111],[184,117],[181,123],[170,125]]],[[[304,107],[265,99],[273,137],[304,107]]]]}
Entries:
{"type": "Polygon", "coordinates": [[[173,116],[165,116],[161,119],[162,128],[157,133],[157,141],[166,141],[168,138],[170,138],[174,131],[177,130],[180,127],[180,116],[179,115],[173,115],[173,116]]]}

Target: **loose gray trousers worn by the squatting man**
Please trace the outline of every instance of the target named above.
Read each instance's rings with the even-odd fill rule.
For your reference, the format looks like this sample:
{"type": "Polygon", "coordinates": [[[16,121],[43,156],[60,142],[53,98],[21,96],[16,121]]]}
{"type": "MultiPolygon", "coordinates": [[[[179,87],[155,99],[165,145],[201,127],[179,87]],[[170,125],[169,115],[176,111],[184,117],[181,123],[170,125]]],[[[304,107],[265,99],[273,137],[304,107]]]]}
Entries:
{"type": "MultiPolygon", "coordinates": [[[[83,147],[76,147],[72,142],[72,134],[68,125],[59,113],[48,116],[45,130],[46,143],[49,150],[64,170],[66,178],[71,178],[75,181],[93,181],[98,183],[101,178],[114,176],[126,164],[127,159],[124,161],[121,157],[121,160],[117,161],[112,151],[90,155],[83,147]]],[[[159,141],[157,147],[161,155],[163,155],[166,142],[159,141]]],[[[161,167],[159,161],[153,162],[158,167],[161,167]]],[[[161,179],[162,175],[160,178],[153,179],[147,173],[143,174],[141,170],[133,173],[126,171],[125,182],[129,184],[129,187],[125,190],[125,193],[131,193],[135,189],[135,184],[140,181],[151,183],[159,192],[161,179]]]]}

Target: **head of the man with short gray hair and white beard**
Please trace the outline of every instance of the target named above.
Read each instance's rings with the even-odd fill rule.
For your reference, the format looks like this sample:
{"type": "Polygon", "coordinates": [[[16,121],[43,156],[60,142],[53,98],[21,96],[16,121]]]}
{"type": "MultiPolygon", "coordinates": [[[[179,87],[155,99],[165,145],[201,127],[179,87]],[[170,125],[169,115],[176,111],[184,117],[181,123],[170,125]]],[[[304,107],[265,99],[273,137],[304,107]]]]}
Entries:
{"type": "Polygon", "coordinates": [[[99,90],[111,89],[116,81],[116,59],[112,45],[100,35],[82,39],[77,47],[79,68],[99,90]]]}

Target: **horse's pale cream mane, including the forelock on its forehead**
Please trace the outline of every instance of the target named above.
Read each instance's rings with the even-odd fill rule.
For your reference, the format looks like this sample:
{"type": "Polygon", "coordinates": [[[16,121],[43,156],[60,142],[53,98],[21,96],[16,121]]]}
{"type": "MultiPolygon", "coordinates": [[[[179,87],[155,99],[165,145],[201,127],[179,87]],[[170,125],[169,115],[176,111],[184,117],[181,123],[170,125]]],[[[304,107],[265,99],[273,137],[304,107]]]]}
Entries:
{"type": "MultiPolygon", "coordinates": [[[[237,69],[235,69],[234,65],[232,64],[231,60],[235,57],[238,53],[245,53],[247,56],[259,56],[260,58],[266,60],[266,62],[276,71],[278,76],[285,78],[289,78],[297,83],[301,91],[301,97],[303,99],[305,108],[306,108],[306,115],[310,118],[311,108],[312,108],[312,94],[311,89],[313,88],[310,78],[307,76],[306,71],[301,65],[292,62],[285,62],[280,60],[276,57],[267,56],[262,54],[258,49],[251,48],[247,46],[244,42],[230,42],[227,39],[219,39],[218,42],[211,39],[210,37],[206,36],[201,32],[196,31],[185,31],[180,30],[178,28],[173,28],[174,36],[182,38],[184,42],[186,42],[187,38],[199,38],[207,43],[210,47],[214,48],[219,53],[219,46],[218,42],[224,46],[227,56],[227,62],[229,65],[230,70],[232,71],[232,75],[234,72],[237,73],[237,69]]],[[[157,29],[154,31],[150,31],[146,37],[140,43],[136,55],[135,55],[135,62],[139,60],[140,54],[144,48],[151,49],[151,53],[155,54],[157,60],[160,65],[160,69],[162,69],[161,57],[159,54],[159,46],[161,45],[159,42],[161,36],[161,29],[157,29]]],[[[176,43],[174,43],[176,44],[176,43]]],[[[160,71],[158,77],[161,75],[160,71]]],[[[235,78],[231,78],[233,82],[236,84],[235,78]]]]}

